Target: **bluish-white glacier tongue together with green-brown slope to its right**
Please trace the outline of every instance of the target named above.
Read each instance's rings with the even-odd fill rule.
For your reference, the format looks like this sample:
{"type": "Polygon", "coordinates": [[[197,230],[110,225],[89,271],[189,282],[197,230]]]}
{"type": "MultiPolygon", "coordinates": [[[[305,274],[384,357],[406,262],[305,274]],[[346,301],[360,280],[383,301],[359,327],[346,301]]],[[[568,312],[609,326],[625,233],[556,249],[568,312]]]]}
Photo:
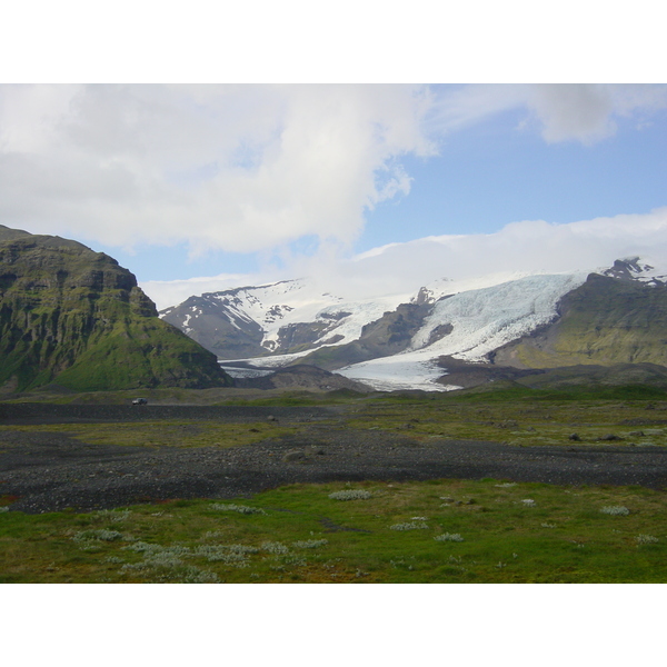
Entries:
{"type": "Polygon", "coordinates": [[[510,379],[511,367],[613,366],[631,378],[624,365],[667,366],[665,273],[633,258],[600,273],[532,276],[461,292],[436,303],[411,349],[340,372],[376,389],[449,389],[469,386],[474,375],[510,379]],[[420,347],[430,328],[446,323],[450,336],[420,347]]]}

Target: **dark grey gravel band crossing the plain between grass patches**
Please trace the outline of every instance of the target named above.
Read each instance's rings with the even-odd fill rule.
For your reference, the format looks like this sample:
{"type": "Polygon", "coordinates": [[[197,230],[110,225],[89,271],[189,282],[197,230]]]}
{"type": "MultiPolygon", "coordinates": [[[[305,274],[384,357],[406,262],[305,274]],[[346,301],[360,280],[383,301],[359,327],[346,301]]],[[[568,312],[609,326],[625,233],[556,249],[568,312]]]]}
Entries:
{"type": "Polygon", "coordinates": [[[237,498],[293,482],[494,478],[667,487],[667,448],[515,447],[355,430],[337,408],[0,405],[0,496],[24,512],[110,509],[173,498],[237,498]],[[279,420],[297,435],[233,448],[92,445],[11,425],[279,420]]]}

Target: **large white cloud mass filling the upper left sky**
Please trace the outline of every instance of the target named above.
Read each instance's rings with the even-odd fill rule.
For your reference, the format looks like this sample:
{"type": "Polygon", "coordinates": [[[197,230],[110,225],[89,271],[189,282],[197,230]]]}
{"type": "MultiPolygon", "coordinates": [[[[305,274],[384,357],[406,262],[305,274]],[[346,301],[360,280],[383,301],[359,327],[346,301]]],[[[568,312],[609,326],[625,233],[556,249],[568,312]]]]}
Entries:
{"type": "Polygon", "coordinates": [[[349,247],[449,132],[526,109],[590,143],[665,107],[659,86],[3,86],[0,221],[195,256],[349,247]]]}

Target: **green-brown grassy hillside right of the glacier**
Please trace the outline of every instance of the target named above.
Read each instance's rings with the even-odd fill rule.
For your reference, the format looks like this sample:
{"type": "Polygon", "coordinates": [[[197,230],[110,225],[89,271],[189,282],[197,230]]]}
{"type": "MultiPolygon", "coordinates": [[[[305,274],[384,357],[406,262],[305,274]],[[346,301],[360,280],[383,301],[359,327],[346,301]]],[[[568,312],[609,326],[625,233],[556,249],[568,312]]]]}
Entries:
{"type": "Polygon", "coordinates": [[[550,326],[500,348],[497,365],[667,366],[667,286],[591,273],[559,303],[550,326]]]}

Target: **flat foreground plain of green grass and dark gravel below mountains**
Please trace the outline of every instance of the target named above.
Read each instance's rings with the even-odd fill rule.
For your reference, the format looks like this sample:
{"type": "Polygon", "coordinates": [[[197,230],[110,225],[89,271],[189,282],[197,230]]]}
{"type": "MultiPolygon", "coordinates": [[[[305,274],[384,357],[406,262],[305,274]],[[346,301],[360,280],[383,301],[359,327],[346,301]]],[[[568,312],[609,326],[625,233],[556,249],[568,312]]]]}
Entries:
{"type": "Polygon", "coordinates": [[[664,390],[230,391],[0,402],[1,579],[667,575],[664,390]]]}

